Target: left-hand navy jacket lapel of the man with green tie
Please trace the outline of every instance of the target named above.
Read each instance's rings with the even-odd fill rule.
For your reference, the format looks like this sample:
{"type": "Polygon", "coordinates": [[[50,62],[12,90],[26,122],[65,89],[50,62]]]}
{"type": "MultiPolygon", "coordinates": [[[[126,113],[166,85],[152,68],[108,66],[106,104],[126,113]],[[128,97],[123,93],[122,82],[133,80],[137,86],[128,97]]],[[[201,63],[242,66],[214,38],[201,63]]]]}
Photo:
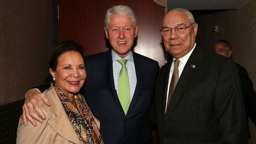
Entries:
{"type": "Polygon", "coordinates": [[[108,86],[114,101],[116,102],[120,110],[123,111],[122,105],[118,99],[117,91],[115,89],[111,49],[105,53],[102,53],[102,55],[103,57],[100,59],[100,65],[101,65],[103,77],[105,78],[106,82],[109,83],[108,86]]]}

